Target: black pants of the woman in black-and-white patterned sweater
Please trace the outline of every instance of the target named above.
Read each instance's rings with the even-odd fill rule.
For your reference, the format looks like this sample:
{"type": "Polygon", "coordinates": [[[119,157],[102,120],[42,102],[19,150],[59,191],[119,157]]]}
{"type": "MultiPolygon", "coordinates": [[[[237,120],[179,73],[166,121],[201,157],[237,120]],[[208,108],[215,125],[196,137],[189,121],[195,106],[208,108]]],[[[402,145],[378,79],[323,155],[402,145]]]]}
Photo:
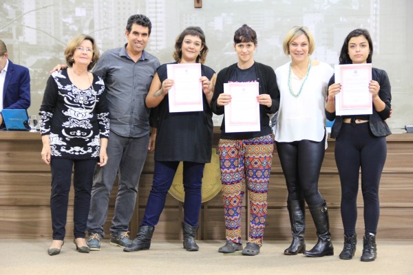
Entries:
{"type": "Polygon", "coordinates": [[[89,214],[90,192],[96,159],[74,160],[52,158],[52,194],[50,210],[52,212],[53,239],[65,239],[67,219],[67,203],[74,166],[74,237],[84,238],[87,214],[89,214]]]}

